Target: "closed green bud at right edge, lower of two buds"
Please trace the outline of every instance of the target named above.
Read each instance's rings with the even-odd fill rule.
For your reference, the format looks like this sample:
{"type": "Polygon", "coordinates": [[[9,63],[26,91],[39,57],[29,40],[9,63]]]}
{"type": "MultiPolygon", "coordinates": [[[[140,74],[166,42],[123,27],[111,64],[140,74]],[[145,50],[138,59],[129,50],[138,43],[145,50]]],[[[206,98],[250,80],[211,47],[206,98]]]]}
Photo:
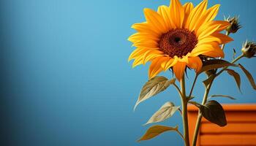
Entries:
{"type": "Polygon", "coordinates": [[[246,41],[241,50],[246,58],[252,58],[256,54],[256,43],[246,41]]]}

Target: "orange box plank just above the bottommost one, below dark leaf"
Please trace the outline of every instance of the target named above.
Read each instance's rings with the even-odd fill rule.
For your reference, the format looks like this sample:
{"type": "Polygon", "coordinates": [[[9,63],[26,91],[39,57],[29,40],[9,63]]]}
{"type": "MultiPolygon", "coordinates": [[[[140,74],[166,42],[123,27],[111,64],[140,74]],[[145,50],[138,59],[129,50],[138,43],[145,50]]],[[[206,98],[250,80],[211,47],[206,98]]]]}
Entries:
{"type": "Polygon", "coordinates": [[[227,123],[225,127],[219,127],[212,123],[203,123],[201,134],[256,134],[256,123],[227,123]]]}

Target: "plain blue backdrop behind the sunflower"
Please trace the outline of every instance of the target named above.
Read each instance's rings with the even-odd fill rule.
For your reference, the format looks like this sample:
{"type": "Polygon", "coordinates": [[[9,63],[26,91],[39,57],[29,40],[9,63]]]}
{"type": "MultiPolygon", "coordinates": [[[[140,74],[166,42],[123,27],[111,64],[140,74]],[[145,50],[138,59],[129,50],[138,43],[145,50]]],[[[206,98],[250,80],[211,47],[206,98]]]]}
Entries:
{"type": "MultiPolygon", "coordinates": [[[[135,32],[130,28],[132,23],[144,20],[144,7],[157,9],[169,1],[0,3],[0,145],[182,145],[174,132],[135,142],[148,128],[142,124],[165,101],[177,105],[180,101],[172,87],[133,112],[140,88],[148,79],[148,65],[132,69],[127,63],[134,50],[127,41],[135,32]]],[[[218,3],[222,6],[217,19],[240,15],[243,26],[232,34],[236,42],[225,49],[230,59],[233,48],[240,53],[242,42],[255,40],[256,1],[209,1],[210,6],[218,3]]],[[[254,62],[244,59],[240,63],[255,75],[254,62]]],[[[164,75],[171,77],[170,72],[164,75]]],[[[191,82],[194,72],[188,76],[191,82]]],[[[216,80],[211,93],[237,98],[219,98],[222,103],[255,103],[255,91],[244,74],[241,78],[243,94],[227,74],[216,80]]],[[[203,84],[198,82],[194,93],[197,101],[201,101],[202,94],[203,84]]],[[[162,124],[181,128],[180,123],[181,117],[176,113],[162,124]]]]}

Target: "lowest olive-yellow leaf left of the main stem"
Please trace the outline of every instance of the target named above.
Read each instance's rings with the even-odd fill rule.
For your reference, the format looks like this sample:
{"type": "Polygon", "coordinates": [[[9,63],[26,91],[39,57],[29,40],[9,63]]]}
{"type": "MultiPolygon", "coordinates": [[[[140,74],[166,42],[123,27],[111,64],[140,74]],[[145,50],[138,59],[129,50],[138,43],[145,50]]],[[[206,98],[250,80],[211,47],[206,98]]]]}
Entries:
{"type": "Polygon", "coordinates": [[[143,137],[138,139],[138,142],[142,140],[153,139],[154,137],[157,137],[159,134],[162,134],[165,131],[178,131],[178,126],[151,126],[151,128],[148,128],[148,130],[146,131],[146,134],[144,134],[143,137]]]}

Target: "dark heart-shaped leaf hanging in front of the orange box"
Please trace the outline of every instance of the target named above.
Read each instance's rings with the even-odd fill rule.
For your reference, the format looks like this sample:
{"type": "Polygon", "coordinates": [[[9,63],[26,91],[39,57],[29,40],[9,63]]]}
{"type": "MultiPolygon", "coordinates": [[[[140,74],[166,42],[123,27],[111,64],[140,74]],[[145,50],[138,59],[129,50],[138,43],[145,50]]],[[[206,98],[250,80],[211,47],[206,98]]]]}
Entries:
{"type": "Polygon", "coordinates": [[[207,101],[205,105],[200,106],[200,112],[211,123],[215,123],[218,126],[227,125],[225,111],[217,101],[207,101]]]}

